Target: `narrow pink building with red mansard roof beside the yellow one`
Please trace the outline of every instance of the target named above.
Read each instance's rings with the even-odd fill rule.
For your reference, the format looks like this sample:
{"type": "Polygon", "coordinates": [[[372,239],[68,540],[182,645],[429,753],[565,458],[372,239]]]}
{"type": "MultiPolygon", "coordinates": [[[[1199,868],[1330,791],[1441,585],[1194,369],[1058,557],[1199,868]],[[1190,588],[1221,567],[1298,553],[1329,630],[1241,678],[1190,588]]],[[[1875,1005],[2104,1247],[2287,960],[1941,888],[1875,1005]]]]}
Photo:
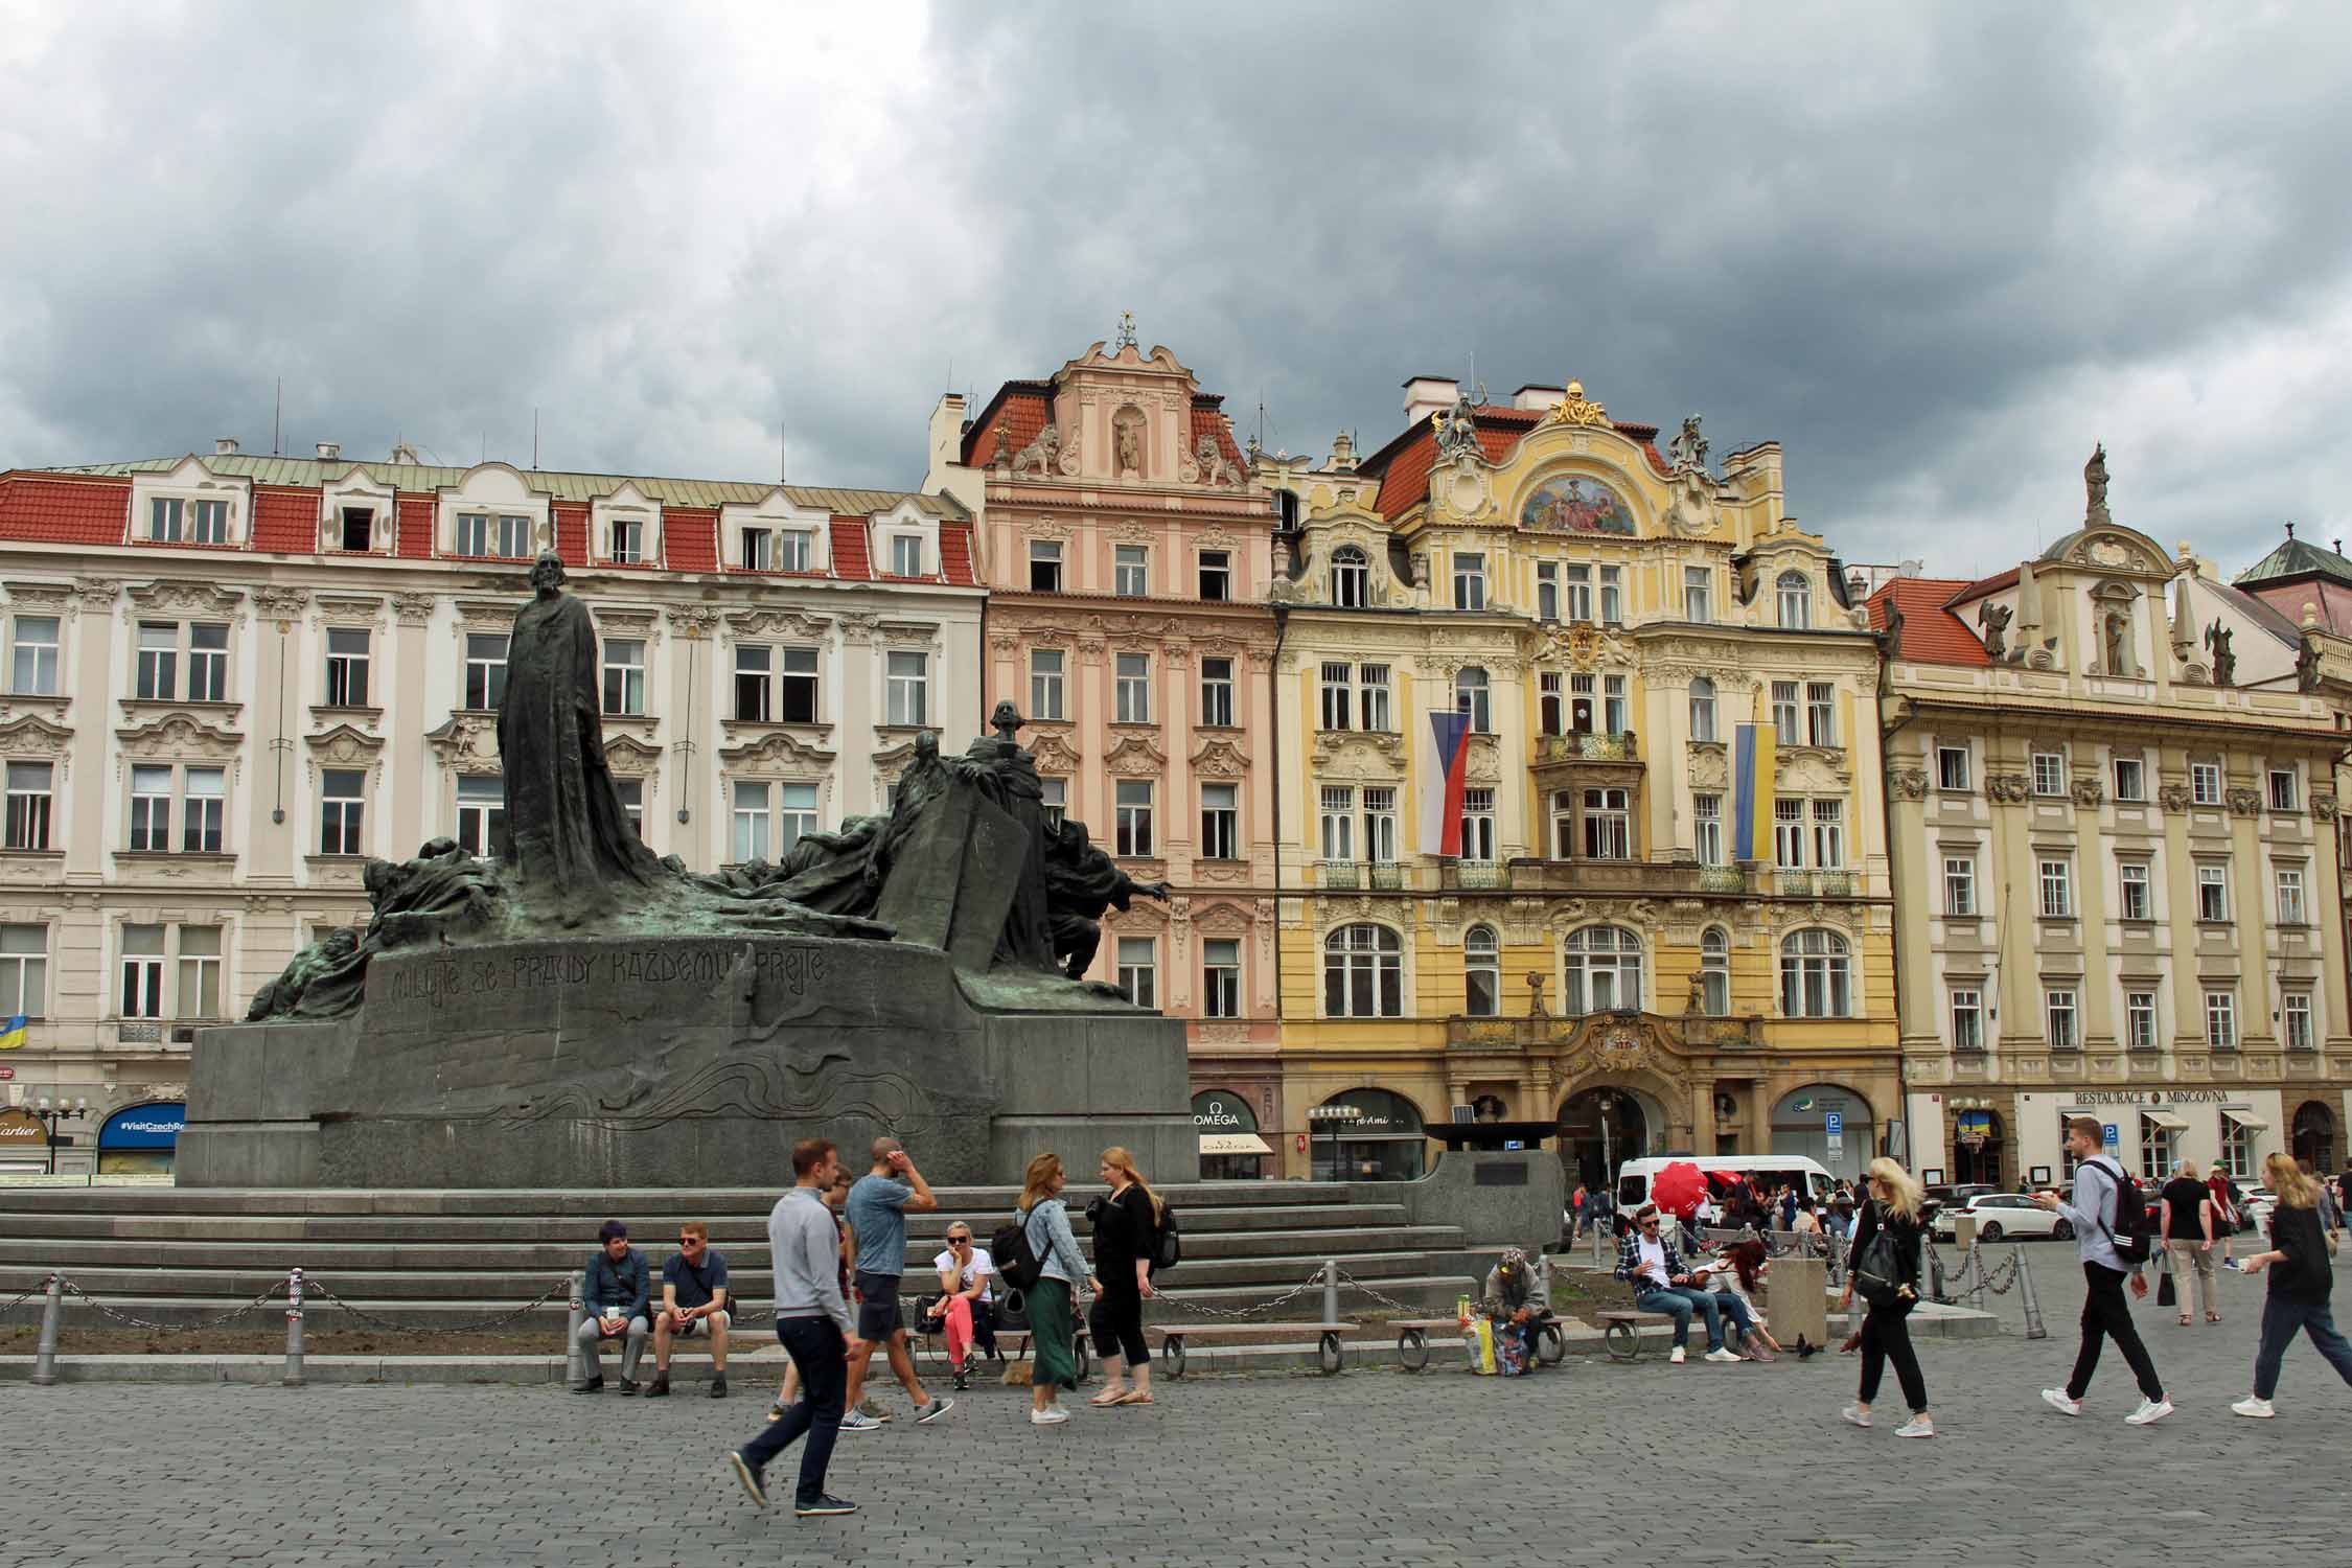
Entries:
{"type": "Polygon", "coordinates": [[[1209,1168],[1254,1175],[1279,1126],[1272,503],[1218,404],[1122,329],[974,418],[941,400],[927,487],[983,520],[983,698],[1028,719],[1047,809],[1171,884],[1105,917],[1089,973],[1188,1020],[1200,1105],[1223,1107],[1204,1150],[1240,1161],[1209,1168]]]}

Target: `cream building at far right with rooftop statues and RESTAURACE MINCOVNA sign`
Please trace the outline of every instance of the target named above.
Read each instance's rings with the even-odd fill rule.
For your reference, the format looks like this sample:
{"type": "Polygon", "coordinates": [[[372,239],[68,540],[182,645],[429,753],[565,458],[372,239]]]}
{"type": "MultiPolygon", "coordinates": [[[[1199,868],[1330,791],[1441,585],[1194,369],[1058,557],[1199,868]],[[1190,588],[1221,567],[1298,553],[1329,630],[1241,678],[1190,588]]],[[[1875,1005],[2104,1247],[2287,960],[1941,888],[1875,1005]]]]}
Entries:
{"type": "Polygon", "coordinates": [[[2103,454],[2086,482],[2037,559],[1870,599],[1912,1164],[2063,1180],[2060,1119],[2093,1114],[2147,1178],[2331,1168],[2352,1032],[2319,639],[2117,522],[2103,454]]]}

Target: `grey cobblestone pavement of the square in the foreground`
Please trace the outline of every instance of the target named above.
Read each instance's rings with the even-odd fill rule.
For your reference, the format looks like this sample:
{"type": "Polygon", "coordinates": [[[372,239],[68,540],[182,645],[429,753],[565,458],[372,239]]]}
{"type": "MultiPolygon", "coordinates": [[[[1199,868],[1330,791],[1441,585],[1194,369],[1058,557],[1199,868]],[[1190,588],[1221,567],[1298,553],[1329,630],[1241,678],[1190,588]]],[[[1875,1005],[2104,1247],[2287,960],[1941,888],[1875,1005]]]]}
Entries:
{"type": "Polygon", "coordinates": [[[2340,1561],[2352,1389],[2298,1345],[2279,1420],[2227,1410],[2251,1378],[2258,1281],[2227,1281],[2218,1328],[2140,1307],[2180,1413],[2131,1429],[2112,1354],[2082,1420],[2039,1403],[2072,1361],[2082,1293],[2072,1248],[2027,1255],[2051,1338],[1924,1342],[1933,1443],[1893,1436],[1891,1378],[1877,1429],[1842,1425],[1856,1363],[1835,1354],[1162,1382],[1155,1408],[1047,1429],[995,1385],[917,1429],[887,1387],[896,1420],[835,1453],[833,1488],[866,1512],[830,1521],[783,1507],[790,1453],[767,1514],[722,1474],[764,1413],[753,1368],[727,1403],[691,1385],[652,1403],[614,1387],[5,1385],[0,1563],[1950,1566],[2237,1561],[2249,1540],[2340,1561]]]}

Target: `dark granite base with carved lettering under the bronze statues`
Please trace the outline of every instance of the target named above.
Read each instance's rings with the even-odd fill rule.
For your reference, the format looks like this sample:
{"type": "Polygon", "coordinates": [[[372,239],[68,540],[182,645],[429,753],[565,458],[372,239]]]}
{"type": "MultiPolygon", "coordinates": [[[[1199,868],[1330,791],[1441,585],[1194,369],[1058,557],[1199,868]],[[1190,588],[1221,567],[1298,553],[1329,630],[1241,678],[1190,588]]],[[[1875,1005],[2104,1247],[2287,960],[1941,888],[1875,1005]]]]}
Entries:
{"type": "Polygon", "coordinates": [[[934,1182],[1195,1180],[1183,1023],[976,1006],[946,952],[814,936],[379,954],[332,1023],[198,1032],[183,1187],[774,1187],[793,1143],[901,1138],[934,1182]]]}

